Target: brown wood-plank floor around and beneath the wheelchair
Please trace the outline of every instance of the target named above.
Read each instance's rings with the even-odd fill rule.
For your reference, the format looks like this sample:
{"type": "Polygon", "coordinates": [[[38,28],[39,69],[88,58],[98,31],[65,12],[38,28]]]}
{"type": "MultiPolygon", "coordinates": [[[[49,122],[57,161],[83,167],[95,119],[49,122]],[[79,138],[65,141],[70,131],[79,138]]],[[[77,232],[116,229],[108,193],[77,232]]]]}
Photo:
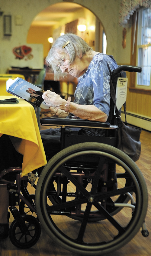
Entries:
{"type": "MultiPolygon", "coordinates": [[[[107,256],[150,256],[151,255],[151,133],[142,131],[141,134],[142,153],[137,165],[142,171],[149,193],[148,212],[146,215],[146,226],[150,233],[144,238],[141,231],[123,248],[114,251],[107,256]]],[[[13,217],[11,216],[11,221],[13,217]]],[[[0,240],[0,256],[77,256],[56,244],[43,230],[37,244],[32,248],[20,250],[16,248],[9,238],[0,240]]]]}

